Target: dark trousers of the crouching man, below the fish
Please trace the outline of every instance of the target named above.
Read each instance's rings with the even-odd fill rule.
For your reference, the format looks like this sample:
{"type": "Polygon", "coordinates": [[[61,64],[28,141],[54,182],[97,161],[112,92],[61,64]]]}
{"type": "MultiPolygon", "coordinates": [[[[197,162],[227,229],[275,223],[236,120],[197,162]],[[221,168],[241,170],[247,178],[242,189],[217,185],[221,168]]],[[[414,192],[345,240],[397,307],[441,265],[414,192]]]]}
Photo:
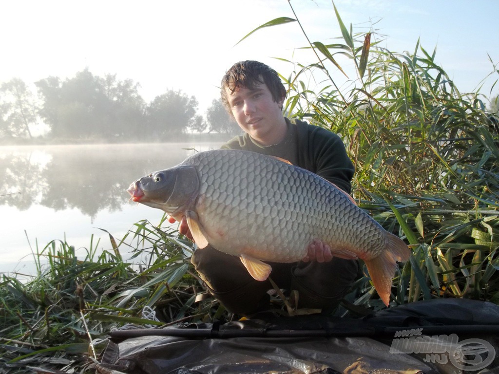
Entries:
{"type": "MultiPolygon", "coordinates": [[[[237,256],[208,246],[197,249],[191,262],[227,310],[249,315],[269,307],[267,280],[253,279],[237,256]]],[[[298,307],[331,311],[351,288],[358,271],[356,260],[333,257],[330,262],[268,262],[270,278],[279,288],[298,291],[298,307]]]]}

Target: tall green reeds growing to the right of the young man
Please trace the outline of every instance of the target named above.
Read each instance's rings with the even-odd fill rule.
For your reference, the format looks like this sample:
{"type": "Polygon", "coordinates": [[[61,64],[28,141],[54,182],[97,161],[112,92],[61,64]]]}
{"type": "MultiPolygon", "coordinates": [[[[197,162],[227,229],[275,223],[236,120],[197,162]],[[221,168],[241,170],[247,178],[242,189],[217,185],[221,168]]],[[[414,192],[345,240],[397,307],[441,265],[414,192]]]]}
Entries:
{"type": "MultiPolygon", "coordinates": [[[[394,281],[396,303],[436,297],[498,303],[493,113],[479,92],[459,92],[435,63],[436,51],[428,53],[419,41],[413,54],[388,51],[371,43],[374,32],[354,34],[334,9],[344,43],[310,42],[306,48],[317,61],[296,63],[284,78],[286,111],[340,134],[355,164],[359,206],[410,244],[411,260],[394,281]],[[344,74],[333,57],[339,55],[353,62],[356,79],[332,78],[344,74]],[[321,83],[310,88],[314,82],[321,83]]],[[[356,304],[380,306],[368,300],[368,278],[356,292],[364,295],[356,304]]]]}

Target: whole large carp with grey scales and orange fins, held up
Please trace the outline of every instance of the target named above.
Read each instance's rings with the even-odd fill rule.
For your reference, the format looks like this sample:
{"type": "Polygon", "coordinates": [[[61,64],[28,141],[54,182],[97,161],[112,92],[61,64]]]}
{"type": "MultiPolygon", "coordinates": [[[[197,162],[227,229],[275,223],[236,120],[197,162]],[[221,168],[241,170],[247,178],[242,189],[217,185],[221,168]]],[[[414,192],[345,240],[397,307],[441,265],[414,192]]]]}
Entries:
{"type": "Polygon", "coordinates": [[[128,189],[134,201],[183,216],[199,248],[239,256],[263,281],[263,261],[301,260],[319,239],[332,254],[365,261],[388,305],[397,261],[407,245],[358,208],[349,195],[304,169],[253,152],[214,150],[152,173],[128,189]]]}

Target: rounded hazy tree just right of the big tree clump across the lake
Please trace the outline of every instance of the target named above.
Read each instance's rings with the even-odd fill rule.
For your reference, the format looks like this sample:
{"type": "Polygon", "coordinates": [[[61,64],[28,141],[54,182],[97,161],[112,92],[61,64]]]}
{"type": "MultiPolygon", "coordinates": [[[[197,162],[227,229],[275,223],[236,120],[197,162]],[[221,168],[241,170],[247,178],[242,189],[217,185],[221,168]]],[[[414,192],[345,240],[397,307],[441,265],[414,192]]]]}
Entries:
{"type": "Polygon", "coordinates": [[[146,109],[148,130],[154,138],[167,140],[170,135],[185,133],[196,127],[198,100],[182,91],[168,90],[156,98],[146,109]]]}

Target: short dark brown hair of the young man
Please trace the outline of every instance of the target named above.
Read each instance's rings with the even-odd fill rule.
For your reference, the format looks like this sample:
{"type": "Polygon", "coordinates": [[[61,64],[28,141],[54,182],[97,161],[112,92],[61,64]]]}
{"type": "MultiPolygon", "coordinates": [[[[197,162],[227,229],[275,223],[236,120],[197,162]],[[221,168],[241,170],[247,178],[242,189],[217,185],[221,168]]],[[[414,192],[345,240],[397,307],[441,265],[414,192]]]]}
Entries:
{"type": "Polygon", "coordinates": [[[252,90],[260,83],[266,84],[275,102],[286,97],[286,89],[279,75],[270,66],[251,60],[236,62],[222,78],[222,104],[229,114],[232,115],[229,92],[232,94],[240,87],[252,90]]]}

